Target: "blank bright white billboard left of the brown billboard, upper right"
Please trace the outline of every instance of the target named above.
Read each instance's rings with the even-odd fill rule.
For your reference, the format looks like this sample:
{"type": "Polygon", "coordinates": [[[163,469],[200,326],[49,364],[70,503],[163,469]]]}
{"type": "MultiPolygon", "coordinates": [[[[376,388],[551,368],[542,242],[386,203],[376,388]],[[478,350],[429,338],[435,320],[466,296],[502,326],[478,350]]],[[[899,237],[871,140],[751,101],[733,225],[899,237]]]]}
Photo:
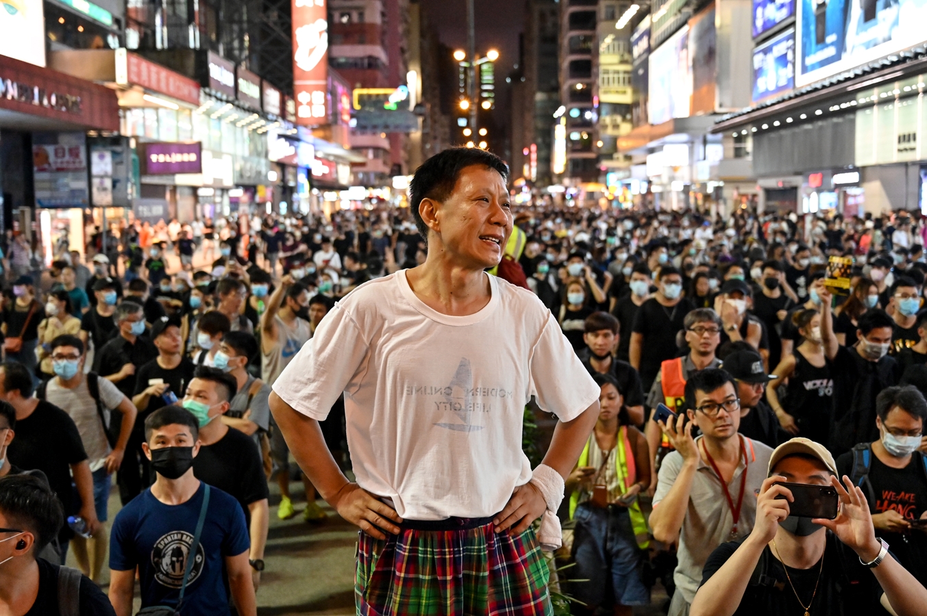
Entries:
{"type": "Polygon", "coordinates": [[[692,111],[689,26],[683,26],[650,54],[647,115],[651,124],[688,118],[692,111]]]}

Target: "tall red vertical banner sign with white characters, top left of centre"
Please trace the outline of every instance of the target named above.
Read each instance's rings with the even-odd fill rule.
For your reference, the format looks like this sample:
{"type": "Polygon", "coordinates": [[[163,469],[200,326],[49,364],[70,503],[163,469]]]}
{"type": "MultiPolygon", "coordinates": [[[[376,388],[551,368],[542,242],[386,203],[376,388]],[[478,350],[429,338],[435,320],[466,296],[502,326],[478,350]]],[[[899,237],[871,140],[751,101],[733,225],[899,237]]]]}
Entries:
{"type": "Polygon", "coordinates": [[[325,0],[293,0],[293,94],[296,123],[327,123],[328,15],[325,0]]]}

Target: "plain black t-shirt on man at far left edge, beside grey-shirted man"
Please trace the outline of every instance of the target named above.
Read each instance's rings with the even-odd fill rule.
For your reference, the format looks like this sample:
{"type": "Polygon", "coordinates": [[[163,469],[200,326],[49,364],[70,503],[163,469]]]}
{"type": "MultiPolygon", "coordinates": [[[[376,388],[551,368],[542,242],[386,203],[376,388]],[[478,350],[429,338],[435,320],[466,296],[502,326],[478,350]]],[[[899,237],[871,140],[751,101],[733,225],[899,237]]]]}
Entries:
{"type": "Polygon", "coordinates": [[[68,413],[40,400],[32,415],[16,422],[16,438],[7,447],[6,456],[20,469],[44,472],[66,515],[80,509],[70,486],[70,465],[83,462],[87,454],[68,413]]]}

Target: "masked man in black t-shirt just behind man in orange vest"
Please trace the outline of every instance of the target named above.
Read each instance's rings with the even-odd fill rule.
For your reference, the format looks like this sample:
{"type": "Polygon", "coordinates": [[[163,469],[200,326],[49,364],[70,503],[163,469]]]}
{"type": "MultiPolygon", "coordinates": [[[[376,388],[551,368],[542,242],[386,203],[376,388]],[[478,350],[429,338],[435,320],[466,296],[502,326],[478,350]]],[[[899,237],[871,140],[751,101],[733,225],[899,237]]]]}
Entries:
{"type": "Polygon", "coordinates": [[[656,295],[645,301],[634,318],[629,363],[641,374],[644,391],[650,391],[660,364],[679,356],[676,334],[682,330],[692,302],[682,297],[682,274],[663,267],[657,275],[656,295]]]}

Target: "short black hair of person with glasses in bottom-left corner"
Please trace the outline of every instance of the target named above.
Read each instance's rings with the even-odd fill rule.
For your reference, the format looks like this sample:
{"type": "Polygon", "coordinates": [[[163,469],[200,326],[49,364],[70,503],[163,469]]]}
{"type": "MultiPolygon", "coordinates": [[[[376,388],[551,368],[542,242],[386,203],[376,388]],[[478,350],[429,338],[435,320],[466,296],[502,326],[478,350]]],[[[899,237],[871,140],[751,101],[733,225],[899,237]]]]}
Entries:
{"type": "Polygon", "coordinates": [[[33,558],[55,538],[64,523],[61,501],[47,483],[28,472],[0,479],[0,511],[10,526],[35,536],[33,558]]]}

